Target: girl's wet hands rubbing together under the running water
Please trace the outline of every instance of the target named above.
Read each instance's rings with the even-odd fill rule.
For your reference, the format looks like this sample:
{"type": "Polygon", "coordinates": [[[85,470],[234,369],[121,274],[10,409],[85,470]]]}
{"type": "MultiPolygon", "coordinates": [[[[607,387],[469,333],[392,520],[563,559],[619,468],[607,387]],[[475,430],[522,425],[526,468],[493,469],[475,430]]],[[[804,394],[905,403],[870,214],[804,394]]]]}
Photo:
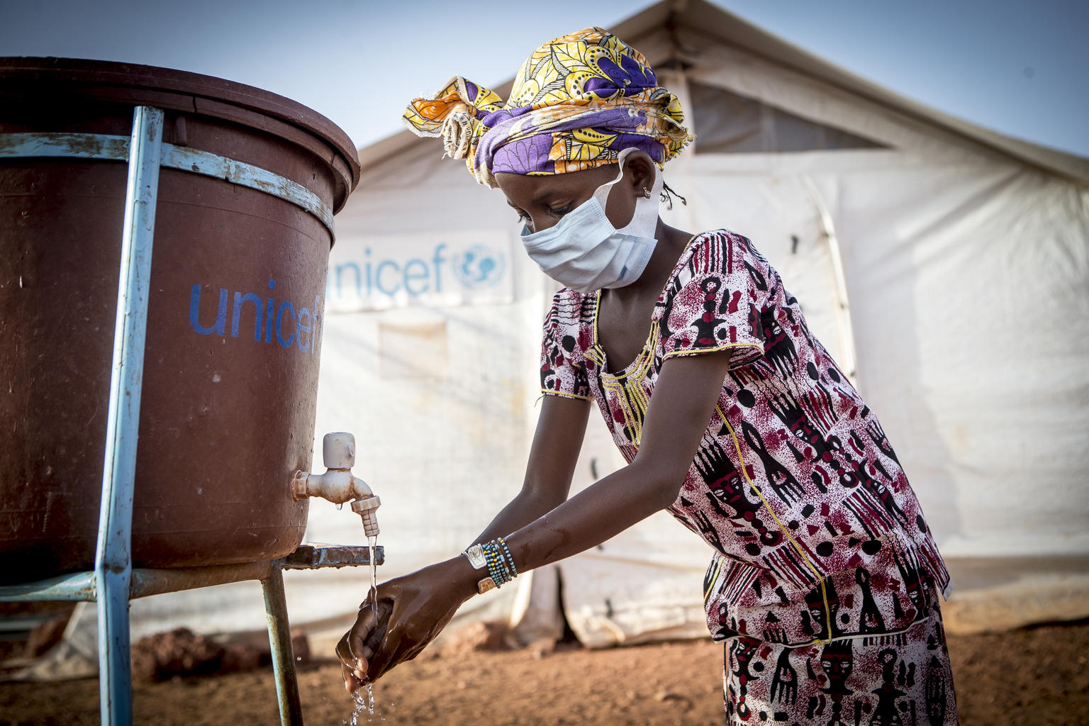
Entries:
{"type": "Polygon", "coordinates": [[[347,691],[416,657],[476,592],[474,573],[468,561],[455,557],[378,586],[377,614],[368,598],[337,644],[347,691]]]}

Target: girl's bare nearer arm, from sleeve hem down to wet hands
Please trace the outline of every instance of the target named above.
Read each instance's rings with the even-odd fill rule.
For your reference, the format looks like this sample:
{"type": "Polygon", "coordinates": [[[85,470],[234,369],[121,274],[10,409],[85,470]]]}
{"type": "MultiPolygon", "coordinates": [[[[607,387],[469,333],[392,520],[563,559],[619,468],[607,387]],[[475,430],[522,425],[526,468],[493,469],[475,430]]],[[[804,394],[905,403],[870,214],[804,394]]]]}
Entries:
{"type": "MultiPolygon", "coordinates": [[[[729,366],[725,352],[665,361],[635,460],[507,537],[518,571],[588,550],[672,504],[714,411],[729,366]]],[[[538,453],[564,456],[561,452],[538,453]]],[[[503,536],[502,531],[502,527],[494,532],[489,527],[486,533],[503,536]]],[[[363,677],[364,669],[375,679],[414,657],[457,606],[476,593],[480,577],[465,557],[457,556],[400,578],[404,582],[391,580],[393,587],[383,583],[379,596],[392,601],[384,636],[379,642],[377,624],[367,611],[362,612],[342,641],[345,652],[338,649],[341,660],[345,664],[357,662],[356,679],[363,677]]],[[[345,680],[352,690],[350,670],[346,665],[345,680]]]]}

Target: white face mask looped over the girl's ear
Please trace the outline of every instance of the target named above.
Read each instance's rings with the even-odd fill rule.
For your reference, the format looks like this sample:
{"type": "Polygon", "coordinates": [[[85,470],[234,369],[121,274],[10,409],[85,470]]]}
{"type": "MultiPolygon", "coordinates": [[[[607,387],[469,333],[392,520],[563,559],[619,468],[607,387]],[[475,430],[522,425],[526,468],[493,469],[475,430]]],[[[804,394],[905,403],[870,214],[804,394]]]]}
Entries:
{"type": "Polygon", "coordinates": [[[635,201],[632,221],[617,230],[605,217],[605,202],[613,185],[624,176],[624,159],[635,151],[624,149],[617,157],[621,172],[594,196],[567,212],[553,226],[540,232],[522,230],[529,257],[556,282],[589,293],[602,287],[623,287],[639,279],[654,251],[662,174],[654,169],[649,198],[635,201]]]}

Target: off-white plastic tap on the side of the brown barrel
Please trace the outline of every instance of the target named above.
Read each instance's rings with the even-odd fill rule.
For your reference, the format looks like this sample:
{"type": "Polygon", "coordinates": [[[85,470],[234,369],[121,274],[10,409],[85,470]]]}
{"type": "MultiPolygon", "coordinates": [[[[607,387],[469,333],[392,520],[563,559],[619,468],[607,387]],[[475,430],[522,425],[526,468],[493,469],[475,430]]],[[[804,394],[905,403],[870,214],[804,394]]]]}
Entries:
{"type": "Polygon", "coordinates": [[[321,440],[321,458],[325,473],[296,471],[291,480],[291,495],[294,500],[320,496],[333,504],[344,504],[352,500],[352,512],[363,518],[363,529],[367,537],[378,537],[378,518],[375,510],[381,504],[363,479],[352,473],[355,465],[355,436],[351,433],[327,433],[321,440]]]}

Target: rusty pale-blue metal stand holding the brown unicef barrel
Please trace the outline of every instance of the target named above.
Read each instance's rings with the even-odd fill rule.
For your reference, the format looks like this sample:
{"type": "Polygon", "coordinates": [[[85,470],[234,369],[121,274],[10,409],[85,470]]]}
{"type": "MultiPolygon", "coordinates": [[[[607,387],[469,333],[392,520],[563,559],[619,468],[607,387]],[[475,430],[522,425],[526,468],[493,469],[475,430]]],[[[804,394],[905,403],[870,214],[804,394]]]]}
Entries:
{"type": "MultiPolygon", "coordinates": [[[[237,582],[260,580],[269,623],[269,643],[276,672],[280,723],[302,726],[303,715],[291,648],[291,626],[281,570],[314,569],[369,564],[367,547],[299,547],[281,561],[189,567],[178,569],[132,569],[133,488],[136,469],[139,404],[144,372],[144,342],[147,328],[151,245],[158,199],[160,163],[185,171],[206,173],[196,162],[182,164],[171,155],[176,148],[162,144],[161,109],[138,106],[133,112],[133,130],[127,144],[129,181],[125,193],[124,227],[121,239],[121,274],[110,371],[110,406],[102,467],[102,499],[95,569],[63,575],[37,582],[0,586],[0,601],[65,600],[98,603],[98,664],[101,723],[131,726],[133,723],[132,666],[130,655],[129,601],[135,598],[237,582]],[[163,157],[163,147],[167,158],[163,157]]],[[[12,135],[9,135],[12,136],[12,135]]],[[[123,137],[89,137],[93,151],[69,145],[75,135],[24,134],[9,144],[2,157],[90,157],[121,160],[123,137]]],[[[203,152],[194,152],[203,153],[203,152]]],[[[264,170],[232,160],[204,157],[228,163],[233,184],[276,194],[318,214],[327,226],[332,212],[307,189],[264,170]],[[277,184],[259,184],[270,177],[277,184]],[[250,179],[253,177],[253,179],[250,179]],[[259,179],[258,179],[259,177],[259,179]],[[257,180],[257,181],[254,181],[257,180]],[[296,188],[297,187],[297,188],[296,188]],[[313,207],[313,209],[310,209],[313,207]]],[[[206,164],[207,165],[207,164],[206,164]]],[[[381,547],[377,549],[381,563],[381,547]]],[[[377,564],[376,563],[376,564],[377,564]]]]}

